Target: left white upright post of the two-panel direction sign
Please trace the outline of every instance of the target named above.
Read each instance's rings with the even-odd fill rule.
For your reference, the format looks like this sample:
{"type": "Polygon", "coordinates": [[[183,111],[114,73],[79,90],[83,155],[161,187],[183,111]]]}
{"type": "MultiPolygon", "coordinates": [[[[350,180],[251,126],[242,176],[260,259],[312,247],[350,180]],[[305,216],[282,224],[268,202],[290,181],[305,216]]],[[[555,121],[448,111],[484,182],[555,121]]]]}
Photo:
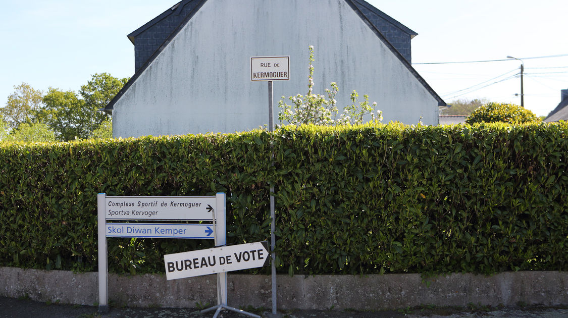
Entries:
{"type": "Polygon", "coordinates": [[[97,226],[98,226],[98,261],[99,261],[99,313],[108,311],[108,273],[107,273],[107,244],[106,244],[106,194],[97,195],[97,226]]]}

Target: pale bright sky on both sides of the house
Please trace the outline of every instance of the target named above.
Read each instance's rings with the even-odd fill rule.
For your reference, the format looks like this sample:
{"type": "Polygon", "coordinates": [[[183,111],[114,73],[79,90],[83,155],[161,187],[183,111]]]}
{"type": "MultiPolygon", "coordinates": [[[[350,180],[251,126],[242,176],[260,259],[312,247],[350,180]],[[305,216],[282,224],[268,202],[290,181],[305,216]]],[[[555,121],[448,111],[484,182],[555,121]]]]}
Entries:
{"type": "MultiPolygon", "coordinates": [[[[418,33],[413,66],[446,102],[488,98],[520,104],[520,62],[418,63],[523,58],[525,107],[537,115],[548,114],[560,102],[560,90],[568,89],[563,0],[367,1],[418,33]],[[564,56],[531,58],[557,55],[564,56]]],[[[132,76],[134,47],[126,35],[175,3],[2,0],[0,106],[22,82],[77,91],[94,73],[132,76]]]]}

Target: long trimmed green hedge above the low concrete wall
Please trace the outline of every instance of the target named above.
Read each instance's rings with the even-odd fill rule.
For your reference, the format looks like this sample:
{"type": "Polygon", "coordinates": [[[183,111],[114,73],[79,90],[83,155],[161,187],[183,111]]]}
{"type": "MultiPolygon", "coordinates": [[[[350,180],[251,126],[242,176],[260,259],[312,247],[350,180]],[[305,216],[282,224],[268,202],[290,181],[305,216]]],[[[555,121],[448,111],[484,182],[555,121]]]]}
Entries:
{"type": "MultiPolygon", "coordinates": [[[[389,124],[4,144],[0,266],[96,270],[101,192],[225,192],[229,244],[267,240],[274,184],[282,273],[567,270],[567,137],[389,124]]],[[[109,239],[109,268],[162,273],[164,254],[211,244],[109,239]]]]}

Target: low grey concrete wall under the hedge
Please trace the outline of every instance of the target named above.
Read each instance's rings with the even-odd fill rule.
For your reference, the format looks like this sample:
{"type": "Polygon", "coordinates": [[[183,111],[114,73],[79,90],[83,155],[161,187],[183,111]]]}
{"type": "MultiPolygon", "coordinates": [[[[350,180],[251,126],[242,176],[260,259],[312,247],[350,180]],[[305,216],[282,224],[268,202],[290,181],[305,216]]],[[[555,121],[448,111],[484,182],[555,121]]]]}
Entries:
{"type": "MultiPolygon", "coordinates": [[[[165,275],[110,275],[108,295],[116,306],[194,308],[216,303],[215,276],[166,281],[165,275]]],[[[278,275],[279,309],[397,309],[425,304],[466,306],[468,303],[516,306],[517,303],[568,305],[568,273],[524,271],[491,277],[451,274],[423,279],[419,274],[278,275]],[[426,283],[428,282],[428,284],[426,283]]],[[[0,267],[0,295],[29,295],[40,301],[98,302],[97,273],[23,270],[0,267]]],[[[272,307],[270,277],[228,275],[228,304],[272,307]]]]}

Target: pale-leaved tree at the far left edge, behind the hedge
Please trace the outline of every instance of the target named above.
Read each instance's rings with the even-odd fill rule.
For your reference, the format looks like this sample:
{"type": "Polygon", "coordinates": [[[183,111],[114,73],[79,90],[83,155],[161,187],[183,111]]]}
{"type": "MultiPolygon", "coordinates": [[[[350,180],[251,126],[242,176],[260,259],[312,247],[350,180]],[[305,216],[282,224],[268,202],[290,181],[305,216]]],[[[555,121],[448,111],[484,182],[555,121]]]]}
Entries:
{"type": "Polygon", "coordinates": [[[14,93],[8,97],[6,106],[0,108],[0,115],[12,129],[21,123],[34,122],[37,111],[43,106],[42,94],[27,83],[14,86],[14,93]]]}

